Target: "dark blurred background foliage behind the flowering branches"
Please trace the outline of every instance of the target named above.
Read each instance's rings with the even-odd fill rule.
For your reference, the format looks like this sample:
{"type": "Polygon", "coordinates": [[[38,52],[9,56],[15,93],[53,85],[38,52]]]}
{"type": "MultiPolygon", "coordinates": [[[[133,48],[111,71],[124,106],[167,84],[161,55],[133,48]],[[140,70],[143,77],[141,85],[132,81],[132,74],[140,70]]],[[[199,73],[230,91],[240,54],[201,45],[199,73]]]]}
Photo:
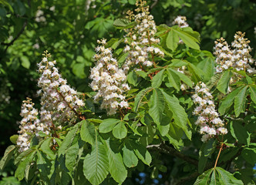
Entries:
{"type": "MultiPolygon", "coordinates": [[[[135,7],[134,0],[2,0],[0,1],[0,156],[10,144],[9,136],[19,130],[19,111],[26,96],[38,103],[36,96],[36,63],[46,49],[58,62],[62,76],[80,92],[89,89],[89,69],[96,40],[113,38],[123,32],[113,27],[116,18],[123,18],[128,9],[135,7]],[[9,97],[6,99],[6,97],[9,97]]],[[[224,37],[231,43],[234,33],[246,32],[255,56],[256,2],[254,0],[166,0],[147,1],[157,25],[172,25],[177,15],[187,16],[187,22],[200,32],[201,49],[213,51],[214,40],[224,37]]],[[[254,57],[255,58],[255,57],[254,57]]],[[[167,164],[175,165],[173,160],[167,164]]],[[[189,170],[190,167],[184,167],[189,170]]],[[[147,172],[146,170],[143,170],[147,172]]],[[[163,174],[159,183],[168,180],[163,174]],[[164,179],[164,180],[163,180],[164,179]]],[[[12,167],[0,172],[2,177],[13,174],[12,167]]],[[[146,181],[152,183],[145,173],[146,181]]],[[[138,175],[132,183],[141,183],[138,175]],[[136,178],[139,180],[136,180],[136,178]]],[[[158,178],[158,177],[155,177],[158,178]]],[[[15,183],[12,177],[3,179],[15,183]]],[[[156,183],[156,182],[155,182],[156,183]]]]}

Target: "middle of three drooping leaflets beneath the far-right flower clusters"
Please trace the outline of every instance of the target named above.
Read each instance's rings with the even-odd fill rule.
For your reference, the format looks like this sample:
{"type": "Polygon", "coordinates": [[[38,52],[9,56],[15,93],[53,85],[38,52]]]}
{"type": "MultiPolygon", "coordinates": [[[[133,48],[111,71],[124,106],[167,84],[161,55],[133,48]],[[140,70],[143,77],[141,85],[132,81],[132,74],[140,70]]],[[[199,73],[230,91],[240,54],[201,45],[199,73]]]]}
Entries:
{"type": "Polygon", "coordinates": [[[234,113],[235,116],[239,116],[240,113],[244,113],[245,111],[245,100],[247,96],[247,88],[248,86],[245,86],[243,89],[241,89],[237,96],[234,98],[234,113]]]}

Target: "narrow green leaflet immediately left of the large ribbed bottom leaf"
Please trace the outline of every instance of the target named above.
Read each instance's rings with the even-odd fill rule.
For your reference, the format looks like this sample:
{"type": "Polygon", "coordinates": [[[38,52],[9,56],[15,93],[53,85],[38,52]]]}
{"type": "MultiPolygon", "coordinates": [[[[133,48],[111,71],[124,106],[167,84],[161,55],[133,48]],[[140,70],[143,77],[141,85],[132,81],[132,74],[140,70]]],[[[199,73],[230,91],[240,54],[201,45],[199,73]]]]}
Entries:
{"type": "Polygon", "coordinates": [[[75,163],[76,163],[76,156],[79,153],[79,144],[78,142],[73,144],[72,146],[69,147],[68,150],[66,150],[66,160],[65,160],[65,165],[66,168],[69,170],[69,172],[72,172],[75,163]]]}

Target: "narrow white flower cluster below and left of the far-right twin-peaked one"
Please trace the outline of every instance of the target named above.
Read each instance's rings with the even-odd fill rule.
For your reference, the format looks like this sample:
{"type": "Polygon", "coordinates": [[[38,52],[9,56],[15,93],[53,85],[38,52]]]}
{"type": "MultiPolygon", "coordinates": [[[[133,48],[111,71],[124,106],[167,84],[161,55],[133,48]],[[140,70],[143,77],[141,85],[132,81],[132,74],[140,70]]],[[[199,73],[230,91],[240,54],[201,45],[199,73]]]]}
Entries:
{"type": "Polygon", "coordinates": [[[201,140],[206,142],[213,136],[226,134],[227,129],[215,110],[213,96],[204,82],[197,83],[192,98],[197,105],[193,114],[198,116],[195,124],[200,126],[200,134],[203,134],[201,140]]]}

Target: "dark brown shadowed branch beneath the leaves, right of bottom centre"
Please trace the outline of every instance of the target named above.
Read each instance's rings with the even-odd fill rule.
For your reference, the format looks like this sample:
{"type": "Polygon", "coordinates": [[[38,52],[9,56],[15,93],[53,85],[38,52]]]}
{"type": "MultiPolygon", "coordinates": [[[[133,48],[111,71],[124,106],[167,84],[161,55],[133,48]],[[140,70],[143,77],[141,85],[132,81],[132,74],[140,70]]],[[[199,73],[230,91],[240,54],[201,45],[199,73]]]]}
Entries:
{"type": "Polygon", "coordinates": [[[184,153],[180,153],[179,151],[173,149],[170,146],[167,146],[164,143],[161,143],[160,145],[149,145],[149,146],[147,146],[147,148],[160,151],[161,153],[167,153],[167,154],[170,154],[171,156],[177,156],[181,160],[187,161],[187,163],[191,163],[196,167],[198,166],[198,160],[195,160],[195,159],[191,158],[190,156],[186,156],[186,155],[184,155],[184,153]]]}

